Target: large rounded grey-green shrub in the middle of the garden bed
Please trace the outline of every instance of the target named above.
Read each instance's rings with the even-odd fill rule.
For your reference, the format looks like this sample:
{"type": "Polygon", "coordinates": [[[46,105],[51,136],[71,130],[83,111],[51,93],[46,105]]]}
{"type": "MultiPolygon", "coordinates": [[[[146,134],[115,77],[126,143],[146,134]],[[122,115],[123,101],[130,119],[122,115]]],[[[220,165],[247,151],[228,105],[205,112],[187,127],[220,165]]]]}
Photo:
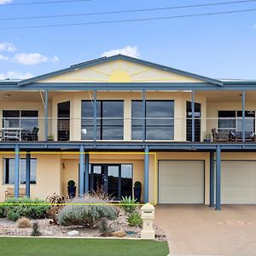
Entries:
{"type": "Polygon", "coordinates": [[[58,221],[61,225],[78,224],[94,227],[101,218],[117,218],[115,208],[108,205],[108,201],[84,195],[83,198],[73,199],[72,203],[59,212],[58,221]]]}

